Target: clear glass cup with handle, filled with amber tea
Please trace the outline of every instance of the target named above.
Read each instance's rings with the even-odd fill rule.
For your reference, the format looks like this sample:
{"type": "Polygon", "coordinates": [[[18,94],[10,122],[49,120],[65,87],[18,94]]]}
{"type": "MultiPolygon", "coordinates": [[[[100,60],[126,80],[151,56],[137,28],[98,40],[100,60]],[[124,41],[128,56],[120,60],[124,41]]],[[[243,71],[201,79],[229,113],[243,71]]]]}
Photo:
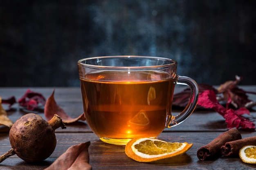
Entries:
{"type": "Polygon", "coordinates": [[[135,137],[157,137],[187,119],[197,104],[198,85],[177,75],[177,62],[163,57],[104,56],[79,60],[86,121],[109,144],[126,145],[135,137]],[[188,85],[191,98],[171,113],[175,84],[188,85]]]}

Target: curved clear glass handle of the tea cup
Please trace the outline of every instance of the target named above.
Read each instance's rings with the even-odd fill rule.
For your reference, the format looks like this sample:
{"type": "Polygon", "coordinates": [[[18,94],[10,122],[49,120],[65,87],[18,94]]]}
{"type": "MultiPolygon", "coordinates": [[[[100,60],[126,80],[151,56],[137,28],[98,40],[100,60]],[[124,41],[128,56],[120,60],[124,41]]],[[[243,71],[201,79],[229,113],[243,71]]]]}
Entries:
{"type": "Polygon", "coordinates": [[[186,76],[178,76],[176,84],[181,85],[187,85],[190,88],[191,95],[189,102],[186,106],[186,108],[176,116],[171,116],[167,122],[167,127],[171,128],[173,126],[177,126],[178,124],[182,123],[184,120],[186,120],[192,112],[195,110],[196,104],[198,102],[198,94],[199,94],[199,88],[198,84],[190,77],[186,76]]]}

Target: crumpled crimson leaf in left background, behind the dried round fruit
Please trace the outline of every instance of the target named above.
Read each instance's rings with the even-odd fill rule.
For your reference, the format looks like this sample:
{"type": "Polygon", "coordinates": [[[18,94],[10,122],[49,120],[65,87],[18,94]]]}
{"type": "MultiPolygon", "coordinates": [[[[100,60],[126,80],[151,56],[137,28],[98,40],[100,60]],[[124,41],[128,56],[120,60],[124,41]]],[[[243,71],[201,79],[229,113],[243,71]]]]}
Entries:
{"type": "Polygon", "coordinates": [[[45,105],[45,97],[41,93],[27,90],[26,93],[18,99],[18,103],[22,107],[27,107],[28,110],[34,110],[38,104],[45,105]]]}

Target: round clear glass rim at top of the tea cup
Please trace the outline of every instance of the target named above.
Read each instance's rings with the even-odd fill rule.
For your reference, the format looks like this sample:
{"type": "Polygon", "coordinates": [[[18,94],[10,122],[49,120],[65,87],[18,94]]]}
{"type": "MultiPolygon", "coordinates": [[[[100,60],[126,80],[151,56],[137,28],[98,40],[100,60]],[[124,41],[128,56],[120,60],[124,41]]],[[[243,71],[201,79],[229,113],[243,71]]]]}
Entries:
{"type": "Polygon", "coordinates": [[[159,68],[159,67],[169,67],[169,66],[177,66],[177,61],[166,58],[166,57],[154,57],[154,56],[142,56],[142,55],[111,55],[111,56],[99,56],[99,57],[87,57],[79,60],[77,62],[80,66],[90,67],[90,68],[130,68],[130,69],[136,69],[136,68],[159,68]],[[85,60],[93,60],[93,59],[101,59],[101,58],[149,58],[149,59],[157,59],[157,60],[168,60],[170,61],[169,64],[160,64],[160,65],[152,65],[152,66],[104,66],[104,65],[94,65],[94,64],[86,64],[82,63],[82,61],[85,60]]]}

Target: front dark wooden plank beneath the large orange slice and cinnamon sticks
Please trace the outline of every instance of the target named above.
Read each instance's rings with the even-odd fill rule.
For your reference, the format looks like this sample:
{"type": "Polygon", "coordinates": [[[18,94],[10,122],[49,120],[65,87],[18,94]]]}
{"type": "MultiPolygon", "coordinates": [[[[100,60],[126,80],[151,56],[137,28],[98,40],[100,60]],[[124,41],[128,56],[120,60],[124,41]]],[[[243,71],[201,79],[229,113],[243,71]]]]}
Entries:
{"type": "MultiPolygon", "coordinates": [[[[178,141],[193,143],[192,148],[186,152],[185,155],[155,161],[153,163],[139,163],[126,156],[124,153],[124,146],[115,146],[111,144],[105,144],[97,138],[93,133],[57,133],[57,146],[54,153],[40,164],[31,165],[19,159],[17,156],[12,156],[0,164],[0,169],[37,169],[41,170],[49,166],[54,160],[57,159],[67,148],[72,145],[80,144],[82,142],[91,141],[89,147],[90,165],[94,170],[114,170],[126,169],[126,170],[166,170],[166,169],[255,169],[255,165],[243,163],[239,157],[228,158],[219,157],[210,161],[199,161],[196,156],[198,148],[209,143],[215,137],[220,135],[221,132],[163,132],[159,135],[159,139],[165,141],[178,141]]],[[[256,135],[255,132],[243,133],[242,137],[249,137],[256,135]]],[[[4,153],[4,150],[8,150],[8,136],[1,135],[0,140],[0,153],[4,153]]]]}

